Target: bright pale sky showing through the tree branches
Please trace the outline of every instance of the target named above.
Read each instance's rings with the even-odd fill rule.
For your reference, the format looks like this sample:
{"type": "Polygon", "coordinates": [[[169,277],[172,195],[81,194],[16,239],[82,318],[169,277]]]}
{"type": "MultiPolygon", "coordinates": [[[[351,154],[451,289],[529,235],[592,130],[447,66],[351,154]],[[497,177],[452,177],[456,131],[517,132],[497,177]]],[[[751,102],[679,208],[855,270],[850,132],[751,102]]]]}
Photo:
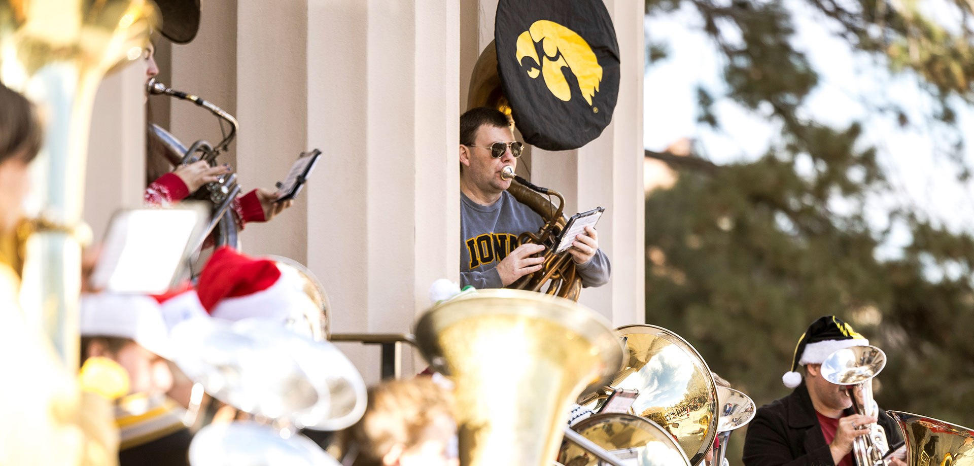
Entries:
{"type": "MultiPolygon", "coordinates": [[[[853,53],[842,40],[830,35],[830,21],[812,11],[801,0],[786,0],[796,14],[795,47],[805,52],[819,72],[819,85],[806,99],[805,115],[820,123],[843,127],[854,120],[864,122],[864,142],[880,151],[895,195],[869,199],[870,222],[885,228],[888,208],[914,205],[938,225],[952,231],[974,231],[974,187],[956,181],[956,166],[936,151],[943,138],[926,125],[900,126],[892,117],[876,116],[864,105],[885,99],[907,110],[911,122],[923,122],[927,97],[911,74],[891,76],[881,62],[853,53]]],[[[928,0],[924,8],[932,18],[948,24],[953,12],[943,0],[928,0]]],[[[663,151],[676,140],[693,140],[696,151],[711,161],[727,163],[760,157],[777,133],[768,121],[767,110],[745,110],[729,99],[714,106],[723,128],[720,132],[696,124],[697,86],[719,93],[724,88],[723,61],[712,43],[698,32],[700,19],[693,9],[645,19],[647,44],[664,42],[667,57],[652,63],[644,81],[644,141],[647,149],[663,151]]],[[[958,115],[963,128],[974,127],[974,112],[966,108],[958,115]]],[[[965,161],[974,165],[974,141],[965,148],[965,161]]],[[[810,166],[810,161],[809,161],[810,166]]],[[[841,208],[842,206],[838,206],[841,208]]],[[[893,225],[880,257],[895,257],[909,241],[904,226],[893,225]]]]}

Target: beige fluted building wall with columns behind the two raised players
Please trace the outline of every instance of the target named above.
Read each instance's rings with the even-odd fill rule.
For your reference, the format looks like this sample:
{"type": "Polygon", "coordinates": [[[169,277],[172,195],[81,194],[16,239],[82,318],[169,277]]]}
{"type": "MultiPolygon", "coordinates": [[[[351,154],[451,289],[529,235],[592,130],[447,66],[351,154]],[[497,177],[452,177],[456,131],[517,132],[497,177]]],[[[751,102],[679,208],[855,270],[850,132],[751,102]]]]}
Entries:
{"type": "MultiPolygon", "coordinates": [[[[607,208],[599,234],[613,279],[581,302],[620,325],[643,319],[643,2],[605,1],[623,57],[614,123],[577,151],[535,151],[531,175],[565,194],[568,210],[607,208]]],[[[226,160],[244,192],[273,187],[301,151],[323,153],[294,207],[246,227],[244,251],[308,265],[327,289],[334,332],[410,332],[432,281],[459,279],[458,119],[497,0],[202,3],[196,40],[161,46],[162,77],[236,115],[226,160]]],[[[219,139],[196,106],[158,107],[153,115],[169,121],[157,123],[187,144],[219,139]]],[[[89,203],[91,215],[99,209],[89,203]]],[[[340,347],[366,380],[378,378],[376,348],[340,347]]],[[[407,373],[422,369],[414,357],[404,355],[407,373]]]]}

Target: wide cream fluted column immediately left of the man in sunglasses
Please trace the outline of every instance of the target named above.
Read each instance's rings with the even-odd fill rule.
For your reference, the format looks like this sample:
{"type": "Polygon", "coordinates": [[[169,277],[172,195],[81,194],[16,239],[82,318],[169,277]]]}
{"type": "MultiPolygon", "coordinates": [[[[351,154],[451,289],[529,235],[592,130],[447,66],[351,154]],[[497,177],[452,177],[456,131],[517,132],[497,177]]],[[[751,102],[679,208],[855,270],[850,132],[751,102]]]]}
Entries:
{"type": "MultiPolygon", "coordinates": [[[[451,0],[309,3],[308,138],[328,150],[308,264],[335,332],[410,332],[432,280],[459,278],[459,17],[451,0]]],[[[378,376],[376,350],[341,347],[378,376]]]]}

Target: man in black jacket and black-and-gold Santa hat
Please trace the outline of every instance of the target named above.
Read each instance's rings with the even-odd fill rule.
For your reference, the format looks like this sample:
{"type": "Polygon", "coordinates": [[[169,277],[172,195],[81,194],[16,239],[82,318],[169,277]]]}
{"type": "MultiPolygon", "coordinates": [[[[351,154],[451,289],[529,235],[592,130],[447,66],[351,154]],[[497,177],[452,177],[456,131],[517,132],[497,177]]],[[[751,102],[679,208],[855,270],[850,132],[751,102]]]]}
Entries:
{"type": "MultiPolygon", "coordinates": [[[[792,371],[782,377],[788,396],[758,409],[744,440],[746,466],[856,466],[852,441],[867,435],[867,424],[878,423],[890,446],[902,440],[899,427],[880,410],[879,419],[852,410],[843,385],[821,376],[821,363],[834,351],[869,344],[838,317],[819,318],[808,326],[792,360],[792,371]],[[804,366],[805,380],[796,370],[804,366]]],[[[894,453],[891,466],[906,466],[894,453]]],[[[865,466],[865,465],[860,465],[865,466]]]]}

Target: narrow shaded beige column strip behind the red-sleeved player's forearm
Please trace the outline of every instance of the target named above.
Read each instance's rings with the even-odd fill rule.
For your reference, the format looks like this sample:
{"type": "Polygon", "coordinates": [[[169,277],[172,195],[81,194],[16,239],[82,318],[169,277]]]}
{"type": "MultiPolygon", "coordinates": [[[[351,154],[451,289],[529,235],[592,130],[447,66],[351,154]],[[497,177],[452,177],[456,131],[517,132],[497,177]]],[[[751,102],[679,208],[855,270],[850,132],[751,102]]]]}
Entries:
{"type": "MultiPolygon", "coordinates": [[[[305,2],[237,2],[237,171],[242,194],[275,189],[309,149],[307,14],[305,2]]],[[[323,149],[325,161],[336,157],[323,149]]],[[[322,173],[315,182],[324,180],[322,173]]],[[[246,225],[241,233],[244,251],[306,263],[308,205],[307,197],[297,197],[272,222],[246,225]]]]}

